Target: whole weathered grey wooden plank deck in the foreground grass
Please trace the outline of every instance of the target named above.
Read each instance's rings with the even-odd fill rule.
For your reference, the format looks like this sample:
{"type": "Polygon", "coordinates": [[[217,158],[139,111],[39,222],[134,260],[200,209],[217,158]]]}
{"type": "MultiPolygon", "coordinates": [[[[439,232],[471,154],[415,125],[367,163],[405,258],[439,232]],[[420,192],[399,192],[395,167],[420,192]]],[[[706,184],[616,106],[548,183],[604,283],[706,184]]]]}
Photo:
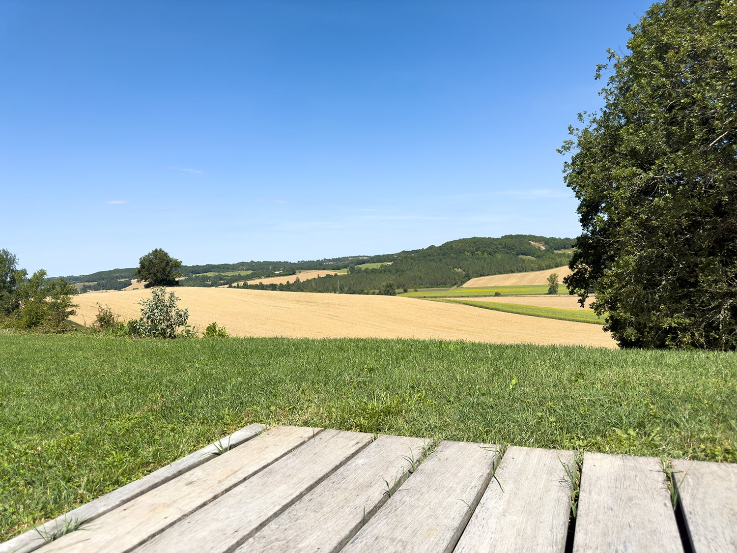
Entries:
{"type": "Polygon", "coordinates": [[[0,553],[737,551],[737,465],[673,461],[674,510],[660,459],[584,453],[573,518],[572,451],[444,441],[427,454],[421,438],[263,430],[242,428],[0,553]]]}

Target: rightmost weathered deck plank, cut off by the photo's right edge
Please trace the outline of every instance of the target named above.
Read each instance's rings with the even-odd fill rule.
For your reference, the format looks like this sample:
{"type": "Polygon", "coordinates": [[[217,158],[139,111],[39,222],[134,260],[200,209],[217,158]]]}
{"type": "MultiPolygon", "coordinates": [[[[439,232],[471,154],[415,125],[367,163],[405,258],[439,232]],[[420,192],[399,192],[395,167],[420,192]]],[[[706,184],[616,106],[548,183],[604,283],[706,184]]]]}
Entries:
{"type": "Polygon", "coordinates": [[[737,551],[737,465],[673,459],[683,514],[696,553],[737,551]]]}

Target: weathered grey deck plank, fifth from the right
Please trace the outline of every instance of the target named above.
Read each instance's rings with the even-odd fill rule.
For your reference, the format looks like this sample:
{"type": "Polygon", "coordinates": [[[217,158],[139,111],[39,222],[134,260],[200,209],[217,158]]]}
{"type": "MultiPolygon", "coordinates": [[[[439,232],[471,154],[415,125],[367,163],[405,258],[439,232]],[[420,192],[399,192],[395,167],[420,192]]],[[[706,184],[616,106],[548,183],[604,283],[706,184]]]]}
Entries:
{"type": "Polygon", "coordinates": [[[240,553],[340,549],[401,484],[425,441],[381,436],[237,549],[240,553]]]}

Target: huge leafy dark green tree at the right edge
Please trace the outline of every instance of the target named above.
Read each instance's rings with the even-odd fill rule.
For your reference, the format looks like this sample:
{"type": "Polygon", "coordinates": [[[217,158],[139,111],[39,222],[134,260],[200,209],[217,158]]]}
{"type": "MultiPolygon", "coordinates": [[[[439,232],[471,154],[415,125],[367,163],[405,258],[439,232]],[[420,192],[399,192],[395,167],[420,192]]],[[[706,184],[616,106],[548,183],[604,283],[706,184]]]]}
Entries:
{"type": "Polygon", "coordinates": [[[666,0],[570,128],[583,232],[564,279],[621,347],[737,348],[737,2],[666,0]]]}

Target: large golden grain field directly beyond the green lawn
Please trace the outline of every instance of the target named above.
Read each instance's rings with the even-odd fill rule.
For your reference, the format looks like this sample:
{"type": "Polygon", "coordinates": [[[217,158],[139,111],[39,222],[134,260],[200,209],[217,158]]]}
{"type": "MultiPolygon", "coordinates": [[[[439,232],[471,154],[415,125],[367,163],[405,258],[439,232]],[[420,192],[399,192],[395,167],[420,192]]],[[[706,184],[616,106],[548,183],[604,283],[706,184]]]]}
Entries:
{"type": "MultiPolygon", "coordinates": [[[[502,344],[578,344],[616,347],[595,324],[554,321],[393,296],[273,292],[234,288],[170,288],[189,308],[189,324],[217,321],[231,335],[292,338],[440,338],[502,344]]],[[[91,324],[97,302],[122,319],[137,319],[150,290],[88,292],[72,319],[91,324]]]]}

